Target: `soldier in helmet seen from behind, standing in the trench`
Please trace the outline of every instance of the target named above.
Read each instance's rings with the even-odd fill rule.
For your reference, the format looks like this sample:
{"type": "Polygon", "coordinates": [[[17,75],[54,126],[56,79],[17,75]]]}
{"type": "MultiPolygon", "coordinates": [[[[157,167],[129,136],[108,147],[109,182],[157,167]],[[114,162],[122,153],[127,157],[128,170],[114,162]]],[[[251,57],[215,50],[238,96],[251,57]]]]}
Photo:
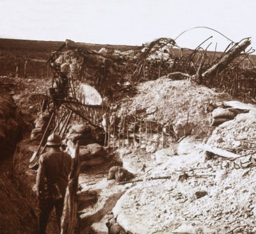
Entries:
{"type": "Polygon", "coordinates": [[[70,155],[60,150],[60,136],[51,134],[46,144],[49,151],[40,155],[39,168],[36,175],[36,195],[40,208],[40,234],[46,231],[47,221],[53,207],[55,207],[56,218],[60,228],[68,175],[72,163],[70,155]]]}

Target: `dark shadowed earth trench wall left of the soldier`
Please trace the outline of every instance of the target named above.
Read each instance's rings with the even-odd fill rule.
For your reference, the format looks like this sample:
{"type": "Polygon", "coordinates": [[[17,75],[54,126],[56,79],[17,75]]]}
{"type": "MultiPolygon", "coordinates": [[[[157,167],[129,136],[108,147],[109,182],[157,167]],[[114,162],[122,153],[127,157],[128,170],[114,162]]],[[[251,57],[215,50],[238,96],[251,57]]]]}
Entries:
{"type": "Polygon", "coordinates": [[[15,176],[13,159],[26,125],[8,90],[0,86],[0,233],[37,233],[36,211],[15,176]]]}

